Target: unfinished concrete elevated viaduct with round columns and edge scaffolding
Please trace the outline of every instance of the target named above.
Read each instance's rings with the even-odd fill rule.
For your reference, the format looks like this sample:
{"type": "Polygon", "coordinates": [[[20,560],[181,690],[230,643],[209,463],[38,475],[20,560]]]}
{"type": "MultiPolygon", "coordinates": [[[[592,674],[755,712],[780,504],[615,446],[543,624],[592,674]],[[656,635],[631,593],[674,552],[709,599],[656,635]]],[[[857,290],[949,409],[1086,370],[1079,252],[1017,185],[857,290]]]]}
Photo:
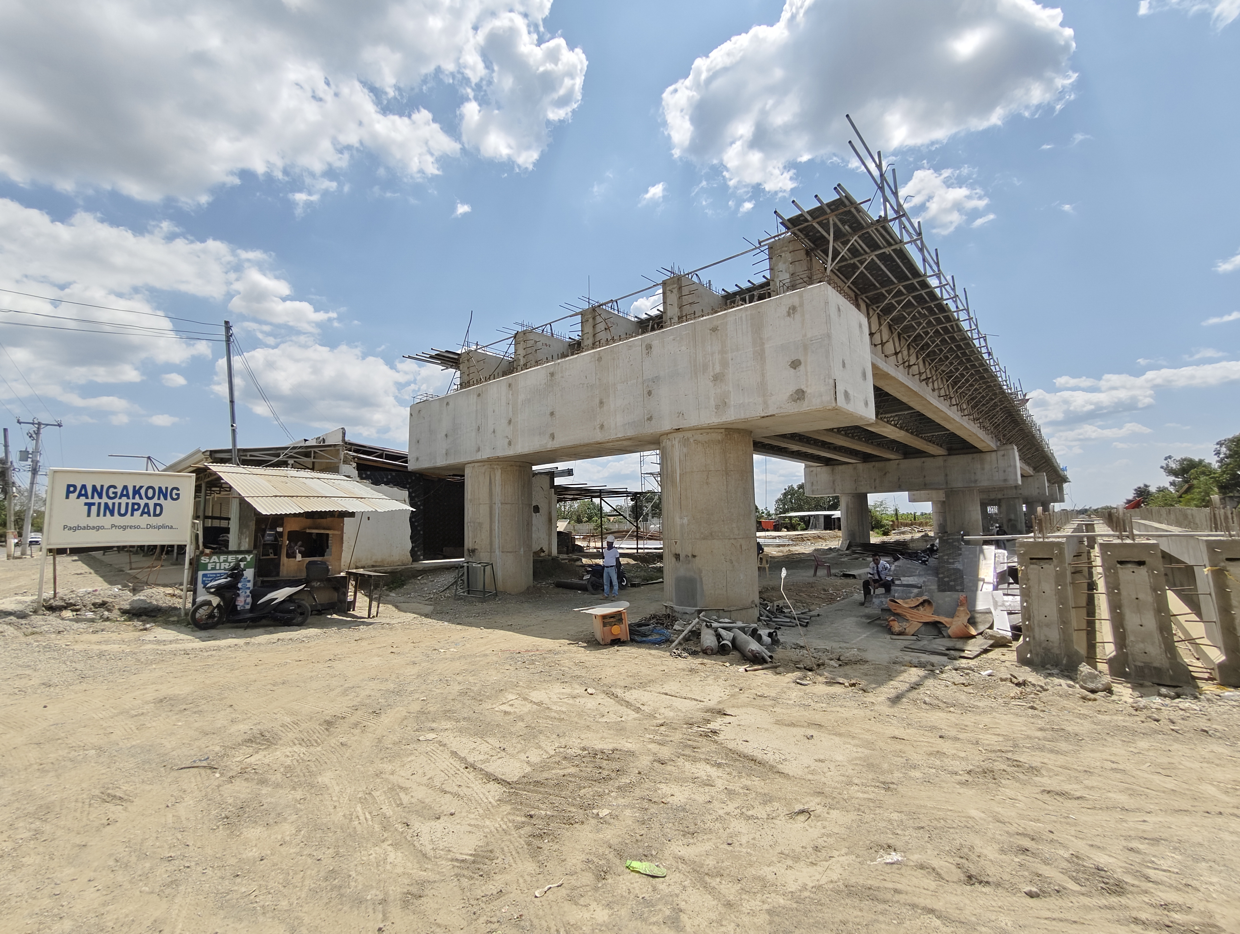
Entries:
{"type": "Polygon", "coordinates": [[[869,541],[868,494],[930,500],[950,533],[941,578],[988,505],[1023,532],[1025,510],[1063,501],[1068,478],[967,293],[904,212],[882,153],[854,151],[873,196],[837,186],[810,208],[794,201],[758,244],[761,282],[715,290],[701,269],[668,270],[649,316],[590,304],[570,316],[579,334],[552,322],[503,350],[414,357],[460,377],[410,407],[409,469],[464,474],[466,558],[491,562],[501,590],[532,583],[532,469],[557,460],[657,448],[666,602],[750,621],[755,453],[804,463],[806,494],[838,495],[844,540],[869,541]]]}

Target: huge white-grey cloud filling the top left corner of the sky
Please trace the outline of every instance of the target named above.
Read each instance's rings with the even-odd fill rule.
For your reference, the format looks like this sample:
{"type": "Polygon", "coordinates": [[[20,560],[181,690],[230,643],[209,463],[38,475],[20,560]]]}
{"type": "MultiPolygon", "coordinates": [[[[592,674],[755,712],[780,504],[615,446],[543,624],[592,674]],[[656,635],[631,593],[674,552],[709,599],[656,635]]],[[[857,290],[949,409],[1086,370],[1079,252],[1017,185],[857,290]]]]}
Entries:
{"type": "MultiPolygon", "coordinates": [[[[580,100],[551,0],[0,4],[0,172],[203,198],[244,171],[320,176],[360,149],[410,176],[470,146],[528,167],[580,100]],[[455,139],[418,103],[465,98],[455,139]]],[[[294,195],[299,208],[324,189],[294,195]]]]}

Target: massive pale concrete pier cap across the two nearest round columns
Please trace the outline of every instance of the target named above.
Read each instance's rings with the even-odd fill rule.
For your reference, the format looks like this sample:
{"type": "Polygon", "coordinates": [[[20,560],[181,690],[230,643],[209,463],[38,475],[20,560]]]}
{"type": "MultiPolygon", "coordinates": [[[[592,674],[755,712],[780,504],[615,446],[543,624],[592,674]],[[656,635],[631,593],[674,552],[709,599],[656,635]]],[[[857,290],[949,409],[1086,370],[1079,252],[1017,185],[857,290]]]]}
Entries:
{"type": "Polygon", "coordinates": [[[866,316],[825,283],[495,371],[507,375],[409,407],[410,470],[630,454],[678,430],[769,435],[874,420],[866,316]]]}

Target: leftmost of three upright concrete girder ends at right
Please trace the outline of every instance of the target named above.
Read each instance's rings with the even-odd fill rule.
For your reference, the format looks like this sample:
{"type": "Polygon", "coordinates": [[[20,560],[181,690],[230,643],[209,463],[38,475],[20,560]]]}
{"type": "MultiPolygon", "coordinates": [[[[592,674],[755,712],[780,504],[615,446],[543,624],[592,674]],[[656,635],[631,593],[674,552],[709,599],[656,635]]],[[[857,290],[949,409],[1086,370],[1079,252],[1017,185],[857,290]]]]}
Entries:
{"type": "Polygon", "coordinates": [[[1068,543],[1024,538],[1017,543],[1017,567],[1023,630],[1017,661],[1035,669],[1076,671],[1085,654],[1076,646],[1068,543]]]}

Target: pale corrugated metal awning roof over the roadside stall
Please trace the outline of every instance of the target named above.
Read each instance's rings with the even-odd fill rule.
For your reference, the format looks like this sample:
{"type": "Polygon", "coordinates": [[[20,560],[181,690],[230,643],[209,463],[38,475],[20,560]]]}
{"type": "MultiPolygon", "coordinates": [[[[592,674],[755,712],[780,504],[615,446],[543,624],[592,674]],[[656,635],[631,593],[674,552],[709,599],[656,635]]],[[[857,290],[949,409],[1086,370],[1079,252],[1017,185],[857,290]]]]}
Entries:
{"type": "Polygon", "coordinates": [[[264,516],[299,512],[412,512],[360,480],[317,470],[206,464],[264,516]]]}

